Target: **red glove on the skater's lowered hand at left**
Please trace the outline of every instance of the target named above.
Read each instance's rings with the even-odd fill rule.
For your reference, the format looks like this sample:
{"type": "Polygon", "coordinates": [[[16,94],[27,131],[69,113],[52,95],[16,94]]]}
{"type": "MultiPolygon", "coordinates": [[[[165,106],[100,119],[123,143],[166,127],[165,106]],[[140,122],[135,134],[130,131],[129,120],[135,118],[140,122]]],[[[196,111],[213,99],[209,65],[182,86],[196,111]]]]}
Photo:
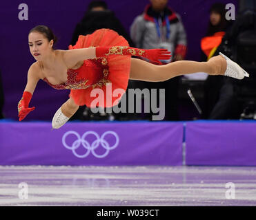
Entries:
{"type": "Polygon", "coordinates": [[[26,116],[28,115],[28,113],[30,113],[30,111],[35,110],[35,107],[28,108],[28,104],[29,104],[31,98],[32,98],[32,94],[30,94],[29,91],[24,91],[23,92],[23,96],[22,96],[22,98],[21,98],[21,100],[19,101],[19,104],[18,104],[19,121],[26,118],[26,116]]]}

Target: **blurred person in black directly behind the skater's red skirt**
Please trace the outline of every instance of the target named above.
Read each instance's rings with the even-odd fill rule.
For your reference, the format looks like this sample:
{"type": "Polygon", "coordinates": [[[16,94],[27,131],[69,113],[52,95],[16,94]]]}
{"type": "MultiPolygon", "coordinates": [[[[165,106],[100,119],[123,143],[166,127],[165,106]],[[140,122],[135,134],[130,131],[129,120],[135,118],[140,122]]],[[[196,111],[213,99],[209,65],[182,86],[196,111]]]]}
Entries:
{"type": "MultiPolygon", "coordinates": [[[[83,19],[77,23],[75,31],[72,35],[71,45],[77,43],[79,35],[92,34],[95,30],[101,28],[109,28],[115,30],[121,36],[128,41],[130,47],[135,47],[134,43],[130,39],[129,34],[126,32],[123,25],[115,13],[108,9],[108,5],[105,1],[91,1],[88,5],[88,9],[83,16],[83,19]]],[[[129,81],[128,88],[132,87],[132,82],[129,81]]],[[[126,93],[128,97],[128,93],[126,93]]],[[[128,99],[127,99],[128,100],[128,99]]],[[[114,120],[119,118],[120,120],[128,120],[133,117],[132,113],[92,113],[86,106],[79,107],[75,115],[72,116],[71,120],[114,120]]]]}

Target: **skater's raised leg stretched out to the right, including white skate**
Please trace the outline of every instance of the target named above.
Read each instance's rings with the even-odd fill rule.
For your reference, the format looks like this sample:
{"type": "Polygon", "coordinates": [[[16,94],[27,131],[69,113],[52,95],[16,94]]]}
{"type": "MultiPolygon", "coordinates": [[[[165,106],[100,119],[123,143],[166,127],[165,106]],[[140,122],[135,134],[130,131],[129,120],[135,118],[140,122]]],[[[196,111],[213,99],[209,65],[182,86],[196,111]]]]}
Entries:
{"type": "Polygon", "coordinates": [[[205,72],[209,75],[231,76],[238,79],[247,76],[247,73],[237,63],[219,55],[210,58],[207,62],[176,61],[167,65],[154,65],[137,58],[132,58],[130,79],[161,82],[175,76],[197,72],[205,72]]]}

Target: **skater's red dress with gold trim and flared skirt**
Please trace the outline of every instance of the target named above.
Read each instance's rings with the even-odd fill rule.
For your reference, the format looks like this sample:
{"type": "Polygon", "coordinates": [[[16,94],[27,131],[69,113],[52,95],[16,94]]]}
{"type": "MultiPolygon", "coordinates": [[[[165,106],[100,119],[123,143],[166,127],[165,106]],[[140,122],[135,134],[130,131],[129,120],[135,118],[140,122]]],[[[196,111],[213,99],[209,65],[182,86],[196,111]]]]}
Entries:
{"type": "MultiPolygon", "coordinates": [[[[68,49],[112,47],[117,45],[129,46],[126,39],[117,34],[117,32],[109,29],[100,29],[86,36],[79,35],[77,43],[74,46],[69,45],[68,49]]],[[[60,85],[52,85],[46,78],[43,80],[55,89],[70,89],[69,96],[75,100],[75,103],[78,105],[86,104],[87,107],[91,107],[91,102],[97,98],[90,96],[92,89],[99,88],[104,91],[104,106],[101,106],[100,103],[96,105],[112,107],[113,104],[117,104],[126,91],[130,74],[130,57],[130,55],[112,55],[85,60],[79,69],[68,69],[68,80],[60,85]],[[112,91],[119,89],[119,96],[115,97],[112,96],[112,92],[106,92],[107,83],[111,83],[112,91]],[[106,101],[107,99],[108,102],[106,101]]]]}

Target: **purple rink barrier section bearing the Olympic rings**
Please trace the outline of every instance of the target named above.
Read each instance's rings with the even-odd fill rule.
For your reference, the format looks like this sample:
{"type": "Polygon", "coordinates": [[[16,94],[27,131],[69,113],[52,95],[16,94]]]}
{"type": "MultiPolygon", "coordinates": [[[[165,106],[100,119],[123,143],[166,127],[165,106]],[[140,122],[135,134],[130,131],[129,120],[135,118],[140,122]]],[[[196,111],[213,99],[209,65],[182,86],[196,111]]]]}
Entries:
{"type": "Polygon", "coordinates": [[[181,165],[182,122],[1,122],[0,165],[181,165]]]}

